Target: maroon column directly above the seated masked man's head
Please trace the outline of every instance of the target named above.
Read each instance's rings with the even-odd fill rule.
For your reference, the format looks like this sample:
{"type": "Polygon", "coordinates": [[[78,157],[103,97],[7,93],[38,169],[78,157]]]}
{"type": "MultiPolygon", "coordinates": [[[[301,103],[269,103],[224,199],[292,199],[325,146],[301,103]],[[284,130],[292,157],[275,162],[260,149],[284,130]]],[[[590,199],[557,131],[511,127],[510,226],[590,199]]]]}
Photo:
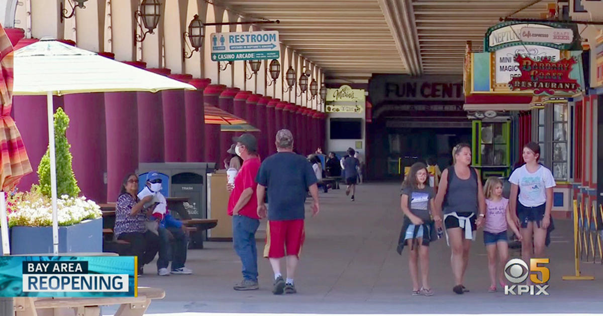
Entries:
{"type": "MultiPolygon", "coordinates": [[[[142,61],[124,61],[125,64],[146,69],[142,61]]],[[[159,73],[158,69],[148,69],[159,73]]],[[[161,92],[140,91],[136,93],[138,112],[138,160],[140,163],[163,163],[165,146],[163,137],[163,107],[161,92]]]]}

